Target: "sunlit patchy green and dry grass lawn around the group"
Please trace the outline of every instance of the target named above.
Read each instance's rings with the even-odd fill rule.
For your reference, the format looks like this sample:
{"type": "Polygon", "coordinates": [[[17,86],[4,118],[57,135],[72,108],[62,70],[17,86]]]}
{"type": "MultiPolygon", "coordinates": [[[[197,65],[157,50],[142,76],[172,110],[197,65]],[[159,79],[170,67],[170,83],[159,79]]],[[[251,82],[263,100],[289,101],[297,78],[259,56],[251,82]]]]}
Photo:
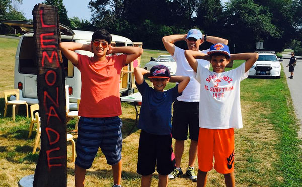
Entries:
{"type": "MultiPolygon", "coordinates": [[[[13,88],[14,54],[18,40],[0,38],[1,91],[13,88]],[[17,41],[17,42],[16,42],[17,41]],[[5,52],[3,52],[5,51],[5,52]]],[[[150,56],[165,52],[143,53],[142,64],[150,56]]],[[[233,68],[243,61],[234,61],[233,68]]],[[[227,68],[230,70],[232,68],[227,68]]],[[[169,83],[167,89],[174,86],[169,83]]],[[[235,178],[237,186],[302,186],[301,140],[297,132],[299,123],[294,114],[290,92],[284,73],[280,79],[248,78],[241,82],[241,106],[243,128],[235,130],[235,178]]],[[[3,118],[4,98],[0,96],[0,186],[16,186],[24,176],[33,174],[38,160],[39,148],[32,154],[35,132],[28,136],[30,119],[25,117],[25,108],[20,107],[16,121],[12,121],[11,106],[8,117],[3,118]]],[[[139,130],[128,132],[135,123],[135,110],[131,103],[122,103],[123,150],[122,186],[139,186],[140,175],[136,173],[139,130]]],[[[67,128],[74,128],[72,120],[67,128]]],[[[74,136],[75,139],[77,136],[74,136]]],[[[188,163],[190,141],[185,142],[182,167],[188,163]]],[[[67,143],[67,186],[74,186],[74,164],[71,163],[71,145],[67,143]]],[[[198,167],[196,162],[195,167],[198,167]]],[[[157,185],[155,173],[152,186],[157,185]]],[[[85,186],[112,186],[111,167],[101,151],[87,171],[85,186]]],[[[168,186],[196,186],[184,177],[169,180],[168,186]]],[[[212,170],[207,186],[225,186],[223,175],[212,170]]]]}

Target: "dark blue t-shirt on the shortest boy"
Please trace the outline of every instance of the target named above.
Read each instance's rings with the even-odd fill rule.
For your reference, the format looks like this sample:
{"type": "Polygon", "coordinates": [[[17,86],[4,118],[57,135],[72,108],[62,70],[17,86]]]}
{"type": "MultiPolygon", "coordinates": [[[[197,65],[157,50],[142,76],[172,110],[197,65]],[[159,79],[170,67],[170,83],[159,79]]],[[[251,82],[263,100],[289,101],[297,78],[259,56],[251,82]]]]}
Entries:
{"type": "Polygon", "coordinates": [[[145,81],[137,85],[142,96],[138,128],[155,135],[171,133],[171,105],[182,93],[178,93],[178,85],[168,91],[158,92],[145,81]]]}

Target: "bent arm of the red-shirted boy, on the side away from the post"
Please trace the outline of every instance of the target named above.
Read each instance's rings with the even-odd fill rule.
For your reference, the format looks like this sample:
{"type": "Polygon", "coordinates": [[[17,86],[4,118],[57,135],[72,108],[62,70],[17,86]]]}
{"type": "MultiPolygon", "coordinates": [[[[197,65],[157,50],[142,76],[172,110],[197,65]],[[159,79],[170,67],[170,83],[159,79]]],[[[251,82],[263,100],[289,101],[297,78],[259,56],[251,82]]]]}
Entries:
{"type": "Polygon", "coordinates": [[[143,49],[140,47],[113,47],[107,51],[107,55],[111,53],[124,53],[127,55],[125,64],[128,65],[130,62],[138,58],[142,53],[143,49]]]}

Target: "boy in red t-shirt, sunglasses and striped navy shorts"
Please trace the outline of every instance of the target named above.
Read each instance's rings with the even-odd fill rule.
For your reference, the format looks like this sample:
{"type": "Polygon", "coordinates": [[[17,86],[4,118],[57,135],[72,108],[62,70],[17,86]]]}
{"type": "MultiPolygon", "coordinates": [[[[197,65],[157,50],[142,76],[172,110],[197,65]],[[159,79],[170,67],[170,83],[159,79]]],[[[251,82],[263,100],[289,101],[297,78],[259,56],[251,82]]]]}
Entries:
{"type": "Polygon", "coordinates": [[[61,42],[62,53],[81,72],[81,102],[75,160],[75,186],[84,186],[86,169],[91,167],[100,147],[107,163],[112,166],[113,186],[120,186],[122,114],[119,98],[119,78],[122,67],[139,57],[143,50],[138,47],[113,47],[108,31],[101,29],[92,35],[90,44],[61,42]],[[85,50],[93,57],[75,53],[85,50]],[[106,56],[111,53],[123,55],[106,56]]]}

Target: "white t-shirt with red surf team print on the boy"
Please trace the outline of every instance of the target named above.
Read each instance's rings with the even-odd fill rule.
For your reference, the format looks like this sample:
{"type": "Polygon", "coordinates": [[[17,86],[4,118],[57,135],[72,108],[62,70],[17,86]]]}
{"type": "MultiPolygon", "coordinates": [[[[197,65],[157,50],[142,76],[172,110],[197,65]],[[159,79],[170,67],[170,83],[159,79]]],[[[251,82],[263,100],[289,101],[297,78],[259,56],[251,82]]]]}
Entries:
{"type": "Polygon", "coordinates": [[[198,63],[195,79],[200,83],[199,127],[242,128],[240,81],[248,77],[245,63],[223,73],[209,71],[198,63]]]}

